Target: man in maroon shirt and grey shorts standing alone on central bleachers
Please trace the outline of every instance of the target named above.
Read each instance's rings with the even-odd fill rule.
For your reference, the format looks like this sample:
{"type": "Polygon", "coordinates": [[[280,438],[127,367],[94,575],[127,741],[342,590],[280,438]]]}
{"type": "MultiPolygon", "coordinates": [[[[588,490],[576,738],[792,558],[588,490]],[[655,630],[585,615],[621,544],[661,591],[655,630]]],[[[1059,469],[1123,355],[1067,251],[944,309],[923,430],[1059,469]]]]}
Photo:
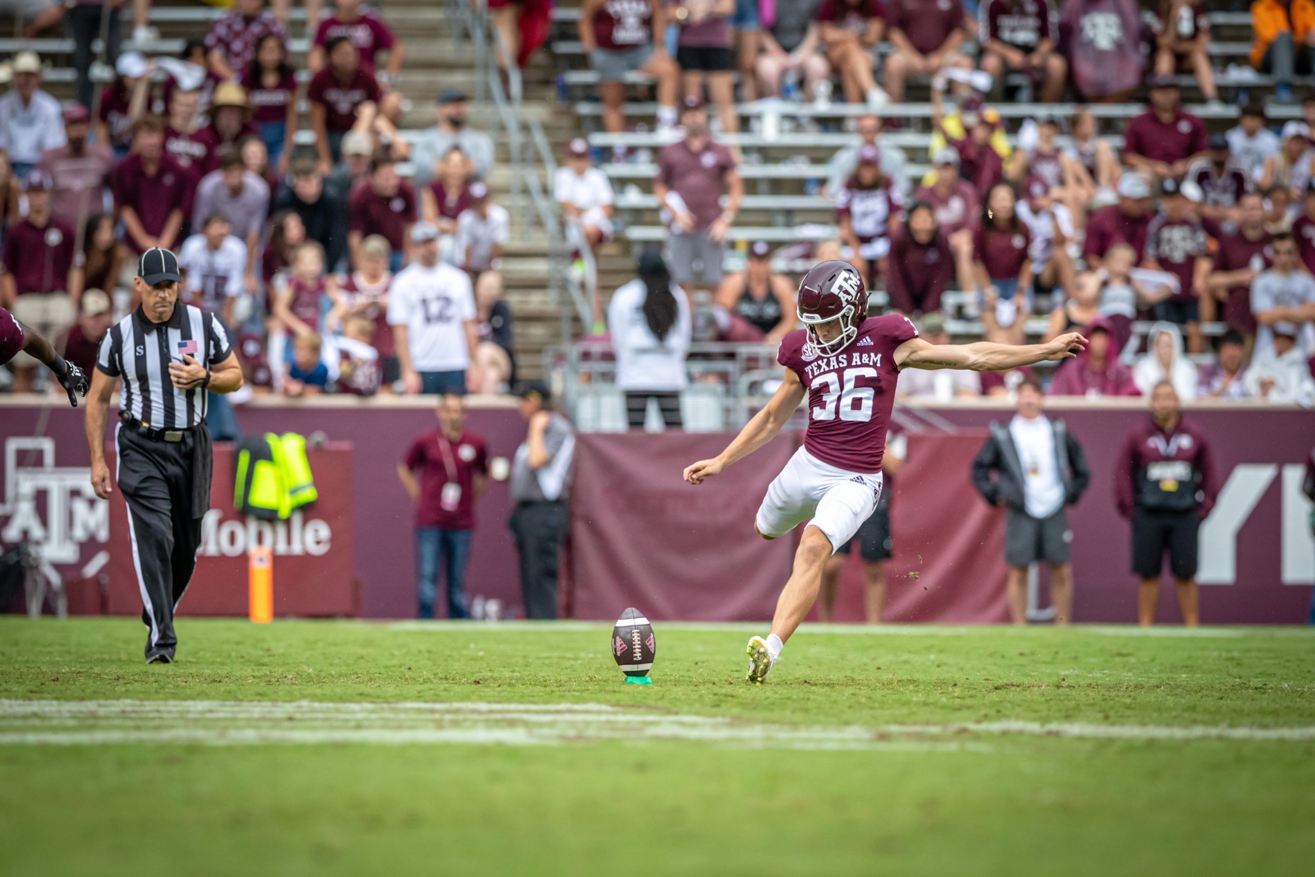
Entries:
{"type": "Polygon", "coordinates": [[[713,142],[701,100],[686,97],[680,121],[685,139],[663,147],[654,193],[671,216],[667,251],[672,279],[693,295],[696,262],[702,263],[705,285],[715,288],[722,281],[726,231],[739,212],[744,183],[730,150],[713,142]]]}

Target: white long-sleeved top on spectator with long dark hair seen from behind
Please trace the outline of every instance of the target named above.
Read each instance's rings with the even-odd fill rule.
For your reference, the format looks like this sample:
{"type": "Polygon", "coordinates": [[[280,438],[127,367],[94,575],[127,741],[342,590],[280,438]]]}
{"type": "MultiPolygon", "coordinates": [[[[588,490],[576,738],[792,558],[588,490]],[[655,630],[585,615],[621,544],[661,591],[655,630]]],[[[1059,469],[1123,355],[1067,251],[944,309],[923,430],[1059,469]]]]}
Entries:
{"type": "Polygon", "coordinates": [[[643,280],[631,280],[611,293],[608,304],[608,331],[617,356],[617,387],[621,389],[680,391],[685,389],[685,354],[693,337],[689,301],[676,284],[671,285],[676,297],[676,322],[667,337],[658,337],[644,320],[644,298],[648,296],[643,280]]]}

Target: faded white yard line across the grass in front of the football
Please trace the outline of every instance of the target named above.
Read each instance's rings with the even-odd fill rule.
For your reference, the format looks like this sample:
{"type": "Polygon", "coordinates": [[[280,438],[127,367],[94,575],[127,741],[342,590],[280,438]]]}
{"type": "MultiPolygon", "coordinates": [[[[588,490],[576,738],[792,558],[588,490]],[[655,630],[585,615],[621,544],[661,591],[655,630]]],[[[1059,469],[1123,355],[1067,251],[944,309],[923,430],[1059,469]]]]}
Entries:
{"type": "Polygon", "coordinates": [[[1315,727],[1027,721],[798,726],[602,703],[0,699],[0,746],[696,742],[740,749],[990,751],[984,736],[1311,742],[1315,727]]]}

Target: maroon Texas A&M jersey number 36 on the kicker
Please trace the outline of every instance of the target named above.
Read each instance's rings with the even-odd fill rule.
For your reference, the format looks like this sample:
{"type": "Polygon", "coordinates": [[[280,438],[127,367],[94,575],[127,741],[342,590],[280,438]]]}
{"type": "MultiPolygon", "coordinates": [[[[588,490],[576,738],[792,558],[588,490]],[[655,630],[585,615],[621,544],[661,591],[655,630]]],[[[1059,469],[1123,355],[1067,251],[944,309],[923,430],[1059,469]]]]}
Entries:
{"type": "Polygon", "coordinates": [[[859,334],[834,356],[821,356],[800,329],[781,339],[777,362],[809,389],[805,450],[849,472],[877,473],[896,404],[896,348],[918,335],[907,317],[863,321],[859,334]]]}

